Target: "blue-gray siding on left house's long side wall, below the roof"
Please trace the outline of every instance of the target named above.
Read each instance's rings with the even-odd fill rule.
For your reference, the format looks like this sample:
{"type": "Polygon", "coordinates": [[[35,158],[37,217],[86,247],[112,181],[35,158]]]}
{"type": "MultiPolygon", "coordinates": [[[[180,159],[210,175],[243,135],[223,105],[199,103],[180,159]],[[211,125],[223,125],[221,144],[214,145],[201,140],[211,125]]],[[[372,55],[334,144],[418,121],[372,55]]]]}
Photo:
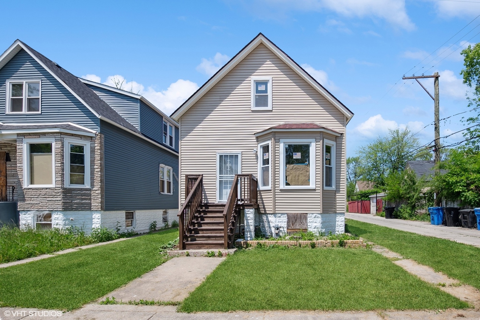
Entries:
{"type": "Polygon", "coordinates": [[[178,156],[101,121],[105,136],[105,210],[178,208],[178,156]],[[160,194],[160,164],[173,168],[173,194],[160,194]]]}

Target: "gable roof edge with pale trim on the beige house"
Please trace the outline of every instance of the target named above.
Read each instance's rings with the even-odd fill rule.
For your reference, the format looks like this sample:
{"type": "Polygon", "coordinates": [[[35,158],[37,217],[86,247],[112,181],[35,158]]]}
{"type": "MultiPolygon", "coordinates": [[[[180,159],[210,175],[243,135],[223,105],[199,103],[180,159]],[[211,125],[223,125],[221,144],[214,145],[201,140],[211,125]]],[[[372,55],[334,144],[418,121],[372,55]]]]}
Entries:
{"type": "Polygon", "coordinates": [[[246,46],[244,46],[239,53],[232,57],[222,68],[220,68],[209,80],[207,80],[197,91],[195,91],[190,98],[187,99],[180,107],[175,110],[170,117],[178,122],[178,119],[188,109],[192,107],[206,92],[208,92],[216,83],[225,77],[231,69],[237,66],[243,58],[252,52],[258,45],[263,44],[270,49],[278,58],[285,62],[288,67],[293,69],[300,75],[303,80],[307,81],[314,89],[322,94],[330,103],[332,103],[338,110],[340,110],[347,117],[347,123],[353,116],[353,113],[336,97],[324,88],[317,80],[315,80],[307,71],[305,71],[300,65],[293,61],[285,52],[283,52],[278,46],[270,41],[262,33],[259,33],[252,39],[246,46]]]}

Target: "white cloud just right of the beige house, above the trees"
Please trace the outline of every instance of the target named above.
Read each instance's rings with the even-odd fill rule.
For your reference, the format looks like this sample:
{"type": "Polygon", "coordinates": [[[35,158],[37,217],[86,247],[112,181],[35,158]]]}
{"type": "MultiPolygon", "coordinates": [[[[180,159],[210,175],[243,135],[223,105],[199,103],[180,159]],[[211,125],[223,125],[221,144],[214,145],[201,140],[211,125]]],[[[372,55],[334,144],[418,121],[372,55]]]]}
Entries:
{"type": "Polygon", "coordinates": [[[354,131],[362,137],[373,138],[385,135],[388,129],[405,129],[407,126],[412,133],[417,133],[425,125],[421,121],[409,121],[406,124],[398,124],[395,120],[386,120],[382,114],[377,114],[356,126],[354,131]]]}

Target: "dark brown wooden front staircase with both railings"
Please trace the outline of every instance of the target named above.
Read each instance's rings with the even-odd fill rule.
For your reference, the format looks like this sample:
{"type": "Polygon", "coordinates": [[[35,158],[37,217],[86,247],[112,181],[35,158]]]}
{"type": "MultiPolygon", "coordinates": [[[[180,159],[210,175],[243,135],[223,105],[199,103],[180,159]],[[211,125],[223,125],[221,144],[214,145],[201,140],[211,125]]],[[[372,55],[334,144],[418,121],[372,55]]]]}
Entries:
{"type": "Polygon", "coordinates": [[[257,206],[257,180],[237,174],[227,203],[203,202],[203,175],[185,177],[187,197],[179,217],[179,249],[229,249],[233,247],[240,209],[257,206]]]}

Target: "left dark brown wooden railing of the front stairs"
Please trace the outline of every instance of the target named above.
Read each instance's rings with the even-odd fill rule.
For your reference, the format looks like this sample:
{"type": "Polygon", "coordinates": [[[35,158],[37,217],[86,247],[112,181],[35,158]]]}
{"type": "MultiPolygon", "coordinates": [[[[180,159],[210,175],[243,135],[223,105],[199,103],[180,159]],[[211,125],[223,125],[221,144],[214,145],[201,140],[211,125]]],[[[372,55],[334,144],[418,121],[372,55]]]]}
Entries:
{"type": "Polygon", "coordinates": [[[179,217],[179,249],[185,249],[185,236],[189,233],[195,213],[202,205],[203,174],[187,175],[185,177],[185,202],[181,207],[179,217]]]}

